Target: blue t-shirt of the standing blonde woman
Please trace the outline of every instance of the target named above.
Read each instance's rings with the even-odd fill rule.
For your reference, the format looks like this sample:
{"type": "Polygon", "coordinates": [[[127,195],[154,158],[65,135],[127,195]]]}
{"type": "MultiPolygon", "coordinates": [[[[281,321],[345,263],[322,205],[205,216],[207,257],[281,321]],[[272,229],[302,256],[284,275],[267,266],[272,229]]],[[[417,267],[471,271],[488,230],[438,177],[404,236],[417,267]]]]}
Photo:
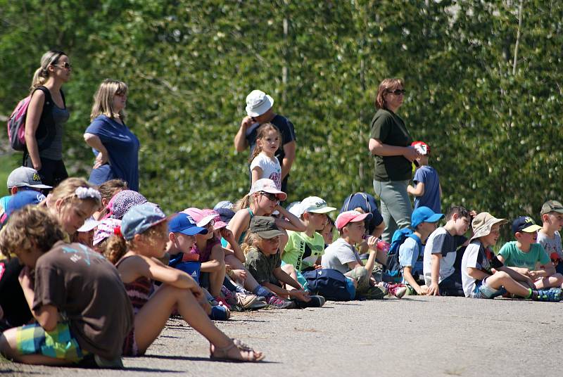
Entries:
{"type": "MultiPolygon", "coordinates": [[[[109,165],[92,170],[89,181],[91,184],[103,184],[110,179],[127,181],[129,189],[139,191],[139,139],[125,124],[100,115],[86,129],[86,133],[94,134],[101,140],[109,154],[109,165]]],[[[94,155],[98,151],[92,148],[94,155]]]]}

